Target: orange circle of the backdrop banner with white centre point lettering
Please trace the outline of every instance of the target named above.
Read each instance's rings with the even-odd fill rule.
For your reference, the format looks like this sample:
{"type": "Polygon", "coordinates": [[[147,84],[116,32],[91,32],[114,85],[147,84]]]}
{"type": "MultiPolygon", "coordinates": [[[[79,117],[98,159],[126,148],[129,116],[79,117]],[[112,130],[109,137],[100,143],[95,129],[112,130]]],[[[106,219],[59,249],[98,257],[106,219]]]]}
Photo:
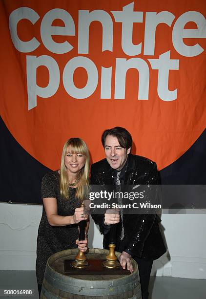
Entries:
{"type": "Polygon", "coordinates": [[[130,131],[159,170],[206,127],[205,0],[0,2],[1,117],[21,146],[58,169],[81,137],[130,131]]]}

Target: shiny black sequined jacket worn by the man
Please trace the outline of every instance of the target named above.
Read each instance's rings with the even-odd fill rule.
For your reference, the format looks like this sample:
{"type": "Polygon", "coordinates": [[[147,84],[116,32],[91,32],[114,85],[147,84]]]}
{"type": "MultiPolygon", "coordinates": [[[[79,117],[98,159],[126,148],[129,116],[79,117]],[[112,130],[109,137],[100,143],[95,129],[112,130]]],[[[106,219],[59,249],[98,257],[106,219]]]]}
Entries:
{"type": "MultiPolygon", "coordinates": [[[[106,159],[92,164],[91,184],[113,185],[112,168],[106,159]]],[[[156,163],[137,155],[128,155],[128,164],[124,176],[124,185],[158,184],[156,163]]],[[[103,247],[108,249],[109,233],[103,225],[103,214],[92,214],[95,223],[99,225],[103,236],[103,247]]],[[[161,222],[157,214],[124,214],[124,239],[120,241],[122,231],[121,221],[117,225],[116,251],[127,251],[132,256],[146,260],[154,260],[166,252],[163,237],[160,231],[161,222]]]]}

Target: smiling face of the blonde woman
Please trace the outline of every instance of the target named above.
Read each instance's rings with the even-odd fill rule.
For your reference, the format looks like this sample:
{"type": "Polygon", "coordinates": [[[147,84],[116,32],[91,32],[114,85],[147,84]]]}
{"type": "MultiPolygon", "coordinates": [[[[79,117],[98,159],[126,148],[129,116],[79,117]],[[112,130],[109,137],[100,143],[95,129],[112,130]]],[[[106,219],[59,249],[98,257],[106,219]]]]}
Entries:
{"type": "Polygon", "coordinates": [[[84,167],[86,157],[82,153],[71,152],[70,148],[66,149],[66,155],[64,157],[64,164],[68,174],[78,174],[84,167]]]}

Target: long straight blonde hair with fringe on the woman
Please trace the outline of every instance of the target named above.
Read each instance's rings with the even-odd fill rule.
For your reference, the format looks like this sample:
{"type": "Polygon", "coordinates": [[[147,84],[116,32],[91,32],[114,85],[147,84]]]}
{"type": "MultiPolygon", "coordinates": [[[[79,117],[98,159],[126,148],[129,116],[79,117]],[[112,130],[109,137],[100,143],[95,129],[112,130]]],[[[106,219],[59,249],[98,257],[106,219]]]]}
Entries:
{"type": "Polygon", "coordinates": [[[64,163],[64,158],[68,148],[71,153],[80,153],[86,157],[85,165],[82,167],[77,176],[78,187],[76,196],[80,200],[83,200],[89,194],[89,150],[85,142],[80,138],[70,138],[63,146],[60,168],[60,193],[65,199],[69,198],[69,179],[64,163]]]}

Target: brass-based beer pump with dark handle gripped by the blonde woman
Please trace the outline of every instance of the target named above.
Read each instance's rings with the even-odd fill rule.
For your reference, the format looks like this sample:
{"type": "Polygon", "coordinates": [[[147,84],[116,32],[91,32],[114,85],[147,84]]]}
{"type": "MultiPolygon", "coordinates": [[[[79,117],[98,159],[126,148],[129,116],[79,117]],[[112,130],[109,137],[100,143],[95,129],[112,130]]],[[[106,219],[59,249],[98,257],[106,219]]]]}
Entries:
{"type": "MultiPolygon", "coordinates": [[[[82,204],[81,207],[84,207],[82,204]]],[[[79,233],[79,241],[85,240],[85,227],[86,227],[86,220],[82,220],[79,222],[79,228],[80,228],[80,233],[79,233]]],[[[84,253],[79,249],[79,253],[77,256],[75,256],[75,260],[71,262],[71,266],[73,268],[78,268],[78,269],[84,269],[86,268],[89,263],[86,261],[86,256],[84,253]]]]}

